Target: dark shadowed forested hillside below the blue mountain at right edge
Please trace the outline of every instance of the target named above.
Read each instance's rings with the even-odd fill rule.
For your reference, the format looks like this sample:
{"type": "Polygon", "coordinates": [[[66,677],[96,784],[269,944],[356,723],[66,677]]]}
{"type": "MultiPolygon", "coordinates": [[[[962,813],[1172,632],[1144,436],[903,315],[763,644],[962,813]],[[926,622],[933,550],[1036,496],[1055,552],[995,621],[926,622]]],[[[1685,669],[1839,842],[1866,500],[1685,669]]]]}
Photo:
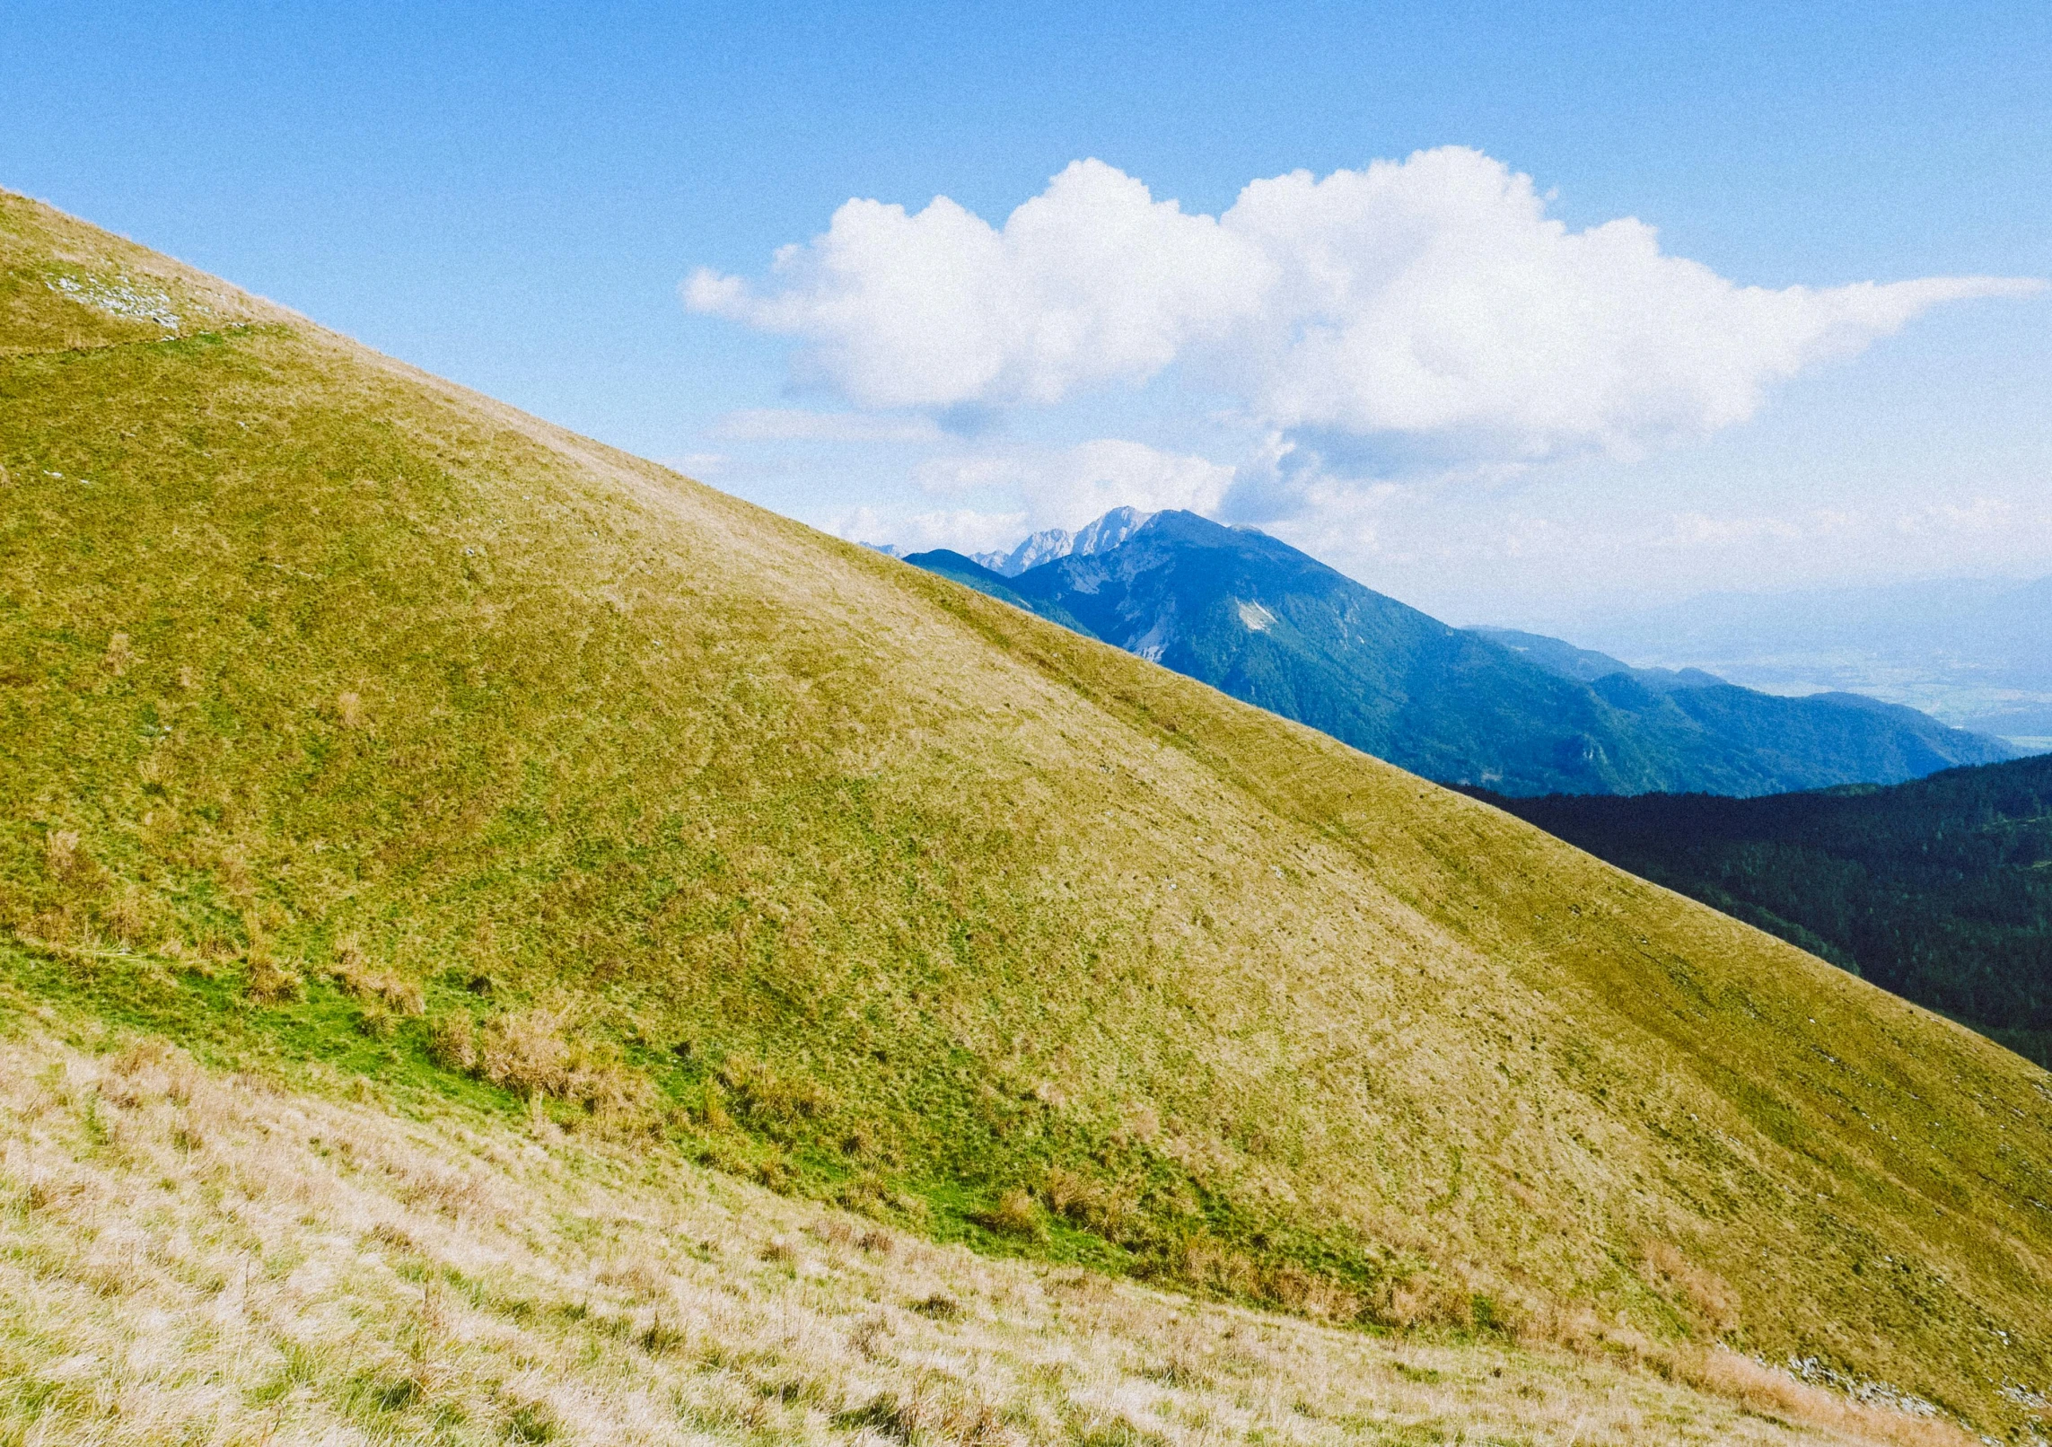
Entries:
{"type": "Polygon", "coordinates": [[[1775,798],[1500,803],[2052,1063],[2052,757],[1775,798]]]}

